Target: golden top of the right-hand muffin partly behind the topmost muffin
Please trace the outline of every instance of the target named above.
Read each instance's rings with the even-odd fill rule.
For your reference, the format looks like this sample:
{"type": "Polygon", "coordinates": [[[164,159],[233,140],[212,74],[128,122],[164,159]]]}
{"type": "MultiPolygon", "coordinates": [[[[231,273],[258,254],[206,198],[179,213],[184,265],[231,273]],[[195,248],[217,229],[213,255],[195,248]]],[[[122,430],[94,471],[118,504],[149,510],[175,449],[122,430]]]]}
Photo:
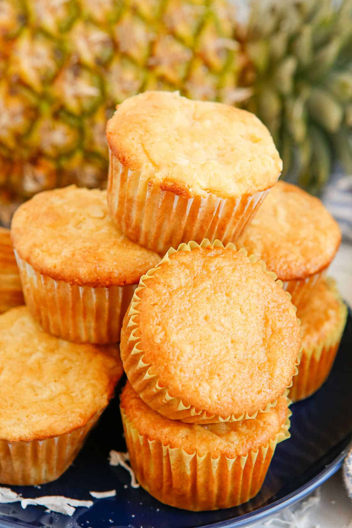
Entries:
{"type": "Polygon", "coordinates": [[[286,281],[324,270],[340,242],[338,223],[318,198],[296,185],[278,182],[236,245],[259,255],[286,281]]]}

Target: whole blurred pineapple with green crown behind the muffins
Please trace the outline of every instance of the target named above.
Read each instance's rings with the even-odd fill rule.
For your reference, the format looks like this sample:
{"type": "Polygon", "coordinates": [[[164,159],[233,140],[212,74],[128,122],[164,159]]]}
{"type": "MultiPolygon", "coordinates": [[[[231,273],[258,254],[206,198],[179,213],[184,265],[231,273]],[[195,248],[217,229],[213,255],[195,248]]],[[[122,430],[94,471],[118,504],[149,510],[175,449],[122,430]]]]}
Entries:
{"type": "Polygon", "coordinates": [[[106,184],[104,129],[143,90],[242,105],[284,177],[352,169],[352,0],[0,0],[0,222],[36,192],[106,184]]]}

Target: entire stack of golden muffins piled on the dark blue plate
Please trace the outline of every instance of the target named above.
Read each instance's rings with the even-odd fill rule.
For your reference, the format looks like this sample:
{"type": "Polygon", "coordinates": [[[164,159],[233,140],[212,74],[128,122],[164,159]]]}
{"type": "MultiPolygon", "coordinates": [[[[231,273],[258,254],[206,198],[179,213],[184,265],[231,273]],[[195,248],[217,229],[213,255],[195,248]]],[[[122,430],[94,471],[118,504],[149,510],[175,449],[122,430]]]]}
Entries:
{"type": "Polygon", "coordinates": [[[275,185],[281,160],[248,112],[145,92],[118,107],[107,138],[107,192],[47,191],[14,215],[27,307],[0,317],[0,482],[48,482],[71,463],[121,375],[120,341],[140,484],[189,510],[235,506],[289,437],[292,379],[305,397],[334,360],[346,308],[322,277],[338,227],[275,185]],[[295,378],[284,289],[309,336],[295,378]]]}

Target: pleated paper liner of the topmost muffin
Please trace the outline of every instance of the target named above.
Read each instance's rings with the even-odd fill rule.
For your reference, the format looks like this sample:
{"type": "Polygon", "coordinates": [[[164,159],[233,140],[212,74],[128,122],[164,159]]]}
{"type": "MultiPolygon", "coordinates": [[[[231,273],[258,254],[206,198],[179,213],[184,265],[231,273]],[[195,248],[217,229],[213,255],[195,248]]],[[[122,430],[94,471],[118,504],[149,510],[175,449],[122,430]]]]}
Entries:
{"type": "Polygon", "coordinates": [[[237,199],[222,199],[212,193],[206,198],[187,198],[161,191],[140,171],[122,165],[110,150],[110,214],[131,240],[159,254],[188,240],[235,242],[268,192],[237,199]]]}

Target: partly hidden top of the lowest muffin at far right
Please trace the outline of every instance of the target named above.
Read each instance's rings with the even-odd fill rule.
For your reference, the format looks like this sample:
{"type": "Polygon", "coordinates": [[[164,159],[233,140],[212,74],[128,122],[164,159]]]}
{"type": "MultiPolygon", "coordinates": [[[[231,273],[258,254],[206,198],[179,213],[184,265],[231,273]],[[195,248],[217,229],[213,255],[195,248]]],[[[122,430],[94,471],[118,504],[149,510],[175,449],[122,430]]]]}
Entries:
{"type": "Polygon", "coordinates": [[[347,306],[341,300],[336,283],[328,278],[312,290],[306,304],[300,308],[302,347],[310,350],[332,338],[337,341],[346,322],[347,306]]]}

